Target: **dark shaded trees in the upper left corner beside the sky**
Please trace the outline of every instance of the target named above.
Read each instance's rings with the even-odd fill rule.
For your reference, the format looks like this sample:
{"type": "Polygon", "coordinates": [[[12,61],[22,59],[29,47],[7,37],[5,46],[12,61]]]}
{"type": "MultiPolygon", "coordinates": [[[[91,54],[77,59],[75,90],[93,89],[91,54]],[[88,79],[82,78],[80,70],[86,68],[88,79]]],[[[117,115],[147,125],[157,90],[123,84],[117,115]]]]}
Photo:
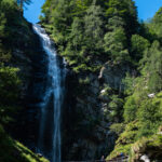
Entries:
{"type": "MultiPolygon", "coordinates": [[[[31,36],[29,25],[21,14],[15,0],[0,1],[0,59],[9,59],[13,48],[25,48],[31,36]],[[27,33],[22,37],[22,33],[27,33]]],[[[19,48],[19,49],[21,49],[19,48]]]]}

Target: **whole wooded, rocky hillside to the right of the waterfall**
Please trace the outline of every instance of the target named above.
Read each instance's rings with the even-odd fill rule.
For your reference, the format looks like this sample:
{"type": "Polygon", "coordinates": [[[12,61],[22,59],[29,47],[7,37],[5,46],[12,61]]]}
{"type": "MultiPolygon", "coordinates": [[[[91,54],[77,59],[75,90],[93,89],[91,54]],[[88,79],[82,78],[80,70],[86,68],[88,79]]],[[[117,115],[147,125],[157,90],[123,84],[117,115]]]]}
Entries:
{"type": "Polygon", "coordinates": [[[41,24],[72,71],[64,156],[96,159],[114,146],[108,159],[160,158],[161,9],[149,23],[137,21],[132,0],[46,0],[42,12],[41,24]]]}

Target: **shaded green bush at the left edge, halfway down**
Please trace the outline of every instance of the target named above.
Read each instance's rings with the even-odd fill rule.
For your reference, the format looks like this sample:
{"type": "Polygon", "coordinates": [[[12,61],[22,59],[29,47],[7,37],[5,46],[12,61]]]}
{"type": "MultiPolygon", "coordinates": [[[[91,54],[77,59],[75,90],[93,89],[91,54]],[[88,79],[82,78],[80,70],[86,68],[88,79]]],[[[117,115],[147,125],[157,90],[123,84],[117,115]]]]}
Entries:
{"type": "Polygon", "coordinates": [[[17,71],[17,68],[0,66],[0,122],[2,123],[11,121],[10,116],[17,110],[21,92],[17,71]]]}

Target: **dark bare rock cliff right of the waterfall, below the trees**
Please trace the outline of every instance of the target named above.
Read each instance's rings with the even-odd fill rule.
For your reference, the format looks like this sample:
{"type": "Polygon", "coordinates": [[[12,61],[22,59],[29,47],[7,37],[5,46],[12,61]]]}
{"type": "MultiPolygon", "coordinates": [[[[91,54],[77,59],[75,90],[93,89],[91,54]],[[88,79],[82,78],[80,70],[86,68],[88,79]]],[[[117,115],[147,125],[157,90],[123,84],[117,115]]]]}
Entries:
{"type": "Polygon", "coordinates": [[[100,71],[69,73],[68,103],[63,118],[63,157],[67,160],[99,159],[114,146],[116,135],[110,133],[111,122],[105,117],[110,96],[107,86],[122,92],[126,65],[105,64],[100,71]]]}

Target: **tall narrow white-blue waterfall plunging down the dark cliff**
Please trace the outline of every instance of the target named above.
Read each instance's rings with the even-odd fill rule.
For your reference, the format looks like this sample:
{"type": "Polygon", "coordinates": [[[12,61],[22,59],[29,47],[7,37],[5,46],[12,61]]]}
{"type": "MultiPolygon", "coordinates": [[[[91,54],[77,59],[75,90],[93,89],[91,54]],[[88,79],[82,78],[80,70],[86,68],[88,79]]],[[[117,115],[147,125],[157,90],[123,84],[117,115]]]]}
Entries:
{"type": "Polygon", "coordinates": [[[53,42],[40,25],[32,26],[48,56],[45,89],[39,103],[38,152],[51,162],[60,162],[60,114],[65,94],[65,63],[56,54],[53,42]]]}

